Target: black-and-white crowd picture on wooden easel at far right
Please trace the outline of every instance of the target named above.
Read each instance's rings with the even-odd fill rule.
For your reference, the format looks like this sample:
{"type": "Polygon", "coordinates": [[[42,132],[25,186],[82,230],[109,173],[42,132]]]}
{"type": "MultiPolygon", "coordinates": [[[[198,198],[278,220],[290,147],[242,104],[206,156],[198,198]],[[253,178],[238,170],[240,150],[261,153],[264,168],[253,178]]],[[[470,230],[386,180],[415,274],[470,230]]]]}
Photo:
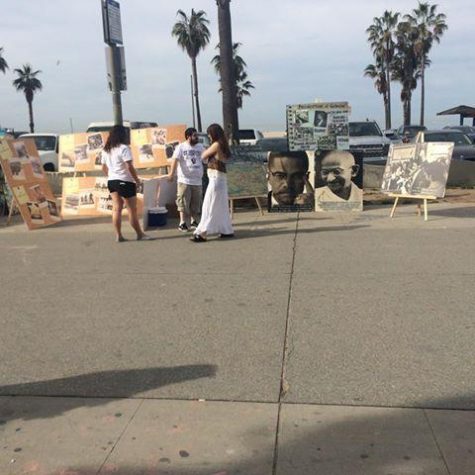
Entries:
{"type": "Polygon", "coordinates": [[[391,145],[381,190],[391,194],[443,198],[454,144],[391,145]]]}

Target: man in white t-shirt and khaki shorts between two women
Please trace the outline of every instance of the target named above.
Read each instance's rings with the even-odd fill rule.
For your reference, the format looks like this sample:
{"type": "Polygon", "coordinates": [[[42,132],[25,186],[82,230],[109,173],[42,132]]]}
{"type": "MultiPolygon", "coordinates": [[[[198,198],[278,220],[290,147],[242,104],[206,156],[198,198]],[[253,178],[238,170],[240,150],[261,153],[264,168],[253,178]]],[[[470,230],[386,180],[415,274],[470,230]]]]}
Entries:
{"type": "Polygon", "coordinates": [[[168,179],[172,181],[177,174],[177,198],[176,204],[180,213],[180,225],[182,232],[189,231],[190,227],[198,226],[198,215],[201,210],[203,162],[201,154],[204,146],[198,141],[196,129],[190,127],[185,130],[185,141],[175,149],[173,162],[168,179]]]}

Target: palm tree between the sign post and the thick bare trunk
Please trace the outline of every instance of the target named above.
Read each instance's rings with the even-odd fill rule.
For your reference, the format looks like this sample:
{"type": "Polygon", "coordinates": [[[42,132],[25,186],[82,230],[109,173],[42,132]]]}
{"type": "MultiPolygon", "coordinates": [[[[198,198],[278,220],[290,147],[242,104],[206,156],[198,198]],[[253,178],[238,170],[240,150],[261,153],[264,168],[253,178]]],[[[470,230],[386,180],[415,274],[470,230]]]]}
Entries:
{"type": "Polygon", "coordinates": [[[195,96],[196,117],[198,130],[201,132],[201,110],[198,95],[198,71],[196,68],[196,58],[201,50],[205,49],[209,43],[211,33],[208,29],[209,20],[206,12],[199,10],[195,12],[191,9],[188,16],[184,11],[178,10],[179,20],[173,25],[172,36],[177,39],[178,45],[187,52],[191,59],[191,71],[193,74],[193,94],[195,96]]]}

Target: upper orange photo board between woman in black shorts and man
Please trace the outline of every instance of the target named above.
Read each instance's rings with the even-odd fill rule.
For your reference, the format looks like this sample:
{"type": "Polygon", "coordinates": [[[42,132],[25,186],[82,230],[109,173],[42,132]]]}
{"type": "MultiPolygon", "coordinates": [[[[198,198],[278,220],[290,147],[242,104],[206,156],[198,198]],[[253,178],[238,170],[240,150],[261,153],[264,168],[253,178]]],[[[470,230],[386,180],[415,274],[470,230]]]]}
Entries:
{"type": "Polygon", "coordinates": [[[176,146],[185,140],[186,125],[165,125],[131,131],[135,168],[166,167],[176,146]]]}

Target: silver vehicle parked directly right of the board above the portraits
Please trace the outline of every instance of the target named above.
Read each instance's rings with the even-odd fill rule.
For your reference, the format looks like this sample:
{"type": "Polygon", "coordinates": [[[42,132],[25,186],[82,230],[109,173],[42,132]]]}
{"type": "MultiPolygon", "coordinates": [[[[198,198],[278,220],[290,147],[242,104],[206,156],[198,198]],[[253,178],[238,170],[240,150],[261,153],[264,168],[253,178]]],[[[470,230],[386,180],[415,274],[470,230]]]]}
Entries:
{"type": "Polygon", "coordinates": [[[350,151],[360,152],[364,161],[386,160],[391,140],[374,120],[348,123],[350,151]]]}

